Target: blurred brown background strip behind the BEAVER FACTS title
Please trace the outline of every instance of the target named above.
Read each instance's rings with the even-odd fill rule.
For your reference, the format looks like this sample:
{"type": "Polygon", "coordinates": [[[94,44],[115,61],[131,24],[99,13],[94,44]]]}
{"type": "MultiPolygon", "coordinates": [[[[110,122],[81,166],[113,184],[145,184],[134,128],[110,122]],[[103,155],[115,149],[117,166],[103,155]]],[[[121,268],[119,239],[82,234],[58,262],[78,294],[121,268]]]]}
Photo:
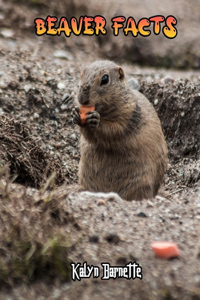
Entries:
{"type": "MultiPolygon", "coordinates": [[[[66,59],[93,60],[108,58],[120,63],[128,62],[140,66],[160,68],[199,69],[200,67],[200,1],[83,1],[83,0],[0,0],[0,49],[27,50],[41,55],[57,53],[66,59]],[[48,15],[66,17],[102,15],[106,21],[105,36],[61,36],[35,34],[35,18],[48,15]],[[175,39],[166,38],[161,32],[149,37],[134,38],[131,34],[114,36],[111,19],[114,16],[132,16],[136,22],[141,18],[172,15],[177,19],[178,35],[175,39]]],[[[164,23],[163,23],[164,24],[164,23]]],[[[162,25],[163,27],[163,25],[162,25]]]]}

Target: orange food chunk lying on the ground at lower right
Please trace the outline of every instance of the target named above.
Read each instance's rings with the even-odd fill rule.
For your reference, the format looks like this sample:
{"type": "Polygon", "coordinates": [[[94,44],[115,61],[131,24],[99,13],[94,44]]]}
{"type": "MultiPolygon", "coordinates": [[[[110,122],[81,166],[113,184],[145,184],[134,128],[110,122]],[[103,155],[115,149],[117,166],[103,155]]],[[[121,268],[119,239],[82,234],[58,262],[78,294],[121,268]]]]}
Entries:
{"type": "Polygon", "coordinates": [[[180,255],[180,251],[178,246],[172,242],[153,242],[151,243],[151,247],[156,254],[156,256],[160,258],[171,258],[177,257],[180,255]]]}

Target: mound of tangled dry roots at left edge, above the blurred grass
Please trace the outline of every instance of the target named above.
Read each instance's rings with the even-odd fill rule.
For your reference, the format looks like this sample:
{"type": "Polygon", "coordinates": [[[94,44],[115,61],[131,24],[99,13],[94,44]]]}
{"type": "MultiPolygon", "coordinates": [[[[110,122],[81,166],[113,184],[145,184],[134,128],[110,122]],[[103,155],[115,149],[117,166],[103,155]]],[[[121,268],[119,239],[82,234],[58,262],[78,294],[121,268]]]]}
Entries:
{"type": "Polygon", "coordinates": [[[15,182],[38,188],[53,172],[55,183],[64,182],[61,168],[37,145],[27,125],[0,116],[0,141],[1,166],[8,167],[15,182]]]}

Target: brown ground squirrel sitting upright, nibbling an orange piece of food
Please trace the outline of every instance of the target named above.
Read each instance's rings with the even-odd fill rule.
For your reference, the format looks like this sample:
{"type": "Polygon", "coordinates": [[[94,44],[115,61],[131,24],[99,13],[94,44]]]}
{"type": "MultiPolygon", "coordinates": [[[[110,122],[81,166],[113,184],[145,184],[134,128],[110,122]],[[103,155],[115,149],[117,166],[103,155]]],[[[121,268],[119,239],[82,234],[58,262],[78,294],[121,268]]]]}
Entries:
{"type": "Polygon", "coordinates": [[[96,61],[81,74],[73,120],[81,130],[79,182],[89,191],[126,200],[156,195],[167,165],[167,145],[152,104],[130,88],[121,67],[96,61]],[[86,124],[79,107],[94,105],[86,124]]]}

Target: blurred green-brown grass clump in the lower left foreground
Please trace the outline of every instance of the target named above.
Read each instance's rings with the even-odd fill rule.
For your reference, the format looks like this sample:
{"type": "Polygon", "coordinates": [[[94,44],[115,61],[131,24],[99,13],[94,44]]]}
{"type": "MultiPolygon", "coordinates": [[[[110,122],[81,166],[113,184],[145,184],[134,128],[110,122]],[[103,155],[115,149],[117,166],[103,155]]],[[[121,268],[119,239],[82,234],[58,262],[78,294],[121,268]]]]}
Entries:
{"type": "Polygon", "coordinates": [[[68,191],[34,190],[0,181],[0,284],[55,276],[69,280],[68,191]]]}

